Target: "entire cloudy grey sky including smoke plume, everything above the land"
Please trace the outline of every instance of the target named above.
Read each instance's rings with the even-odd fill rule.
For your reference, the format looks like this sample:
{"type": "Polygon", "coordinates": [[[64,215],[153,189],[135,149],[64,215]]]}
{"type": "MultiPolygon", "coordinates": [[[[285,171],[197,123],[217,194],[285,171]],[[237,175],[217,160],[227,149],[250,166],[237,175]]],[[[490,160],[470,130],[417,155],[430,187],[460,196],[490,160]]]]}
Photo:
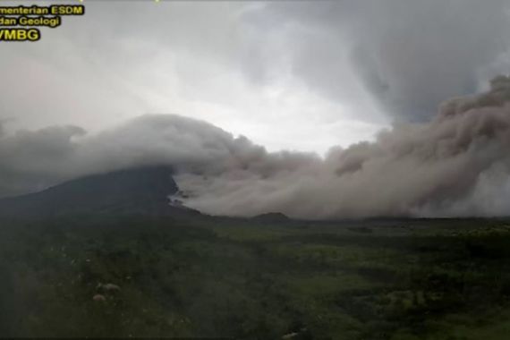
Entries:
{"type": "Polygon", "coordinates": [[[0,197],[165,164],[209,214],[507,216],[506,2],[85,0],[0,44],[0,197]]]}

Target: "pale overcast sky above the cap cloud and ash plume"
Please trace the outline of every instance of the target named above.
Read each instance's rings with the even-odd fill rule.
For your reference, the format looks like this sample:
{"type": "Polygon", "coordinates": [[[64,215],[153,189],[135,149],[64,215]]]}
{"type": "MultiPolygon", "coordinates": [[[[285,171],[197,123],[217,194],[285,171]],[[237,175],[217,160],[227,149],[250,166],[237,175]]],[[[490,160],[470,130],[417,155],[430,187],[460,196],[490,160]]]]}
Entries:
{"type": "Polygon", "coordinates": [[[0,44],[7,130],[178,114],[324,153],[510,69],[505,0],[84,4],[37,43],[0,44]]]}

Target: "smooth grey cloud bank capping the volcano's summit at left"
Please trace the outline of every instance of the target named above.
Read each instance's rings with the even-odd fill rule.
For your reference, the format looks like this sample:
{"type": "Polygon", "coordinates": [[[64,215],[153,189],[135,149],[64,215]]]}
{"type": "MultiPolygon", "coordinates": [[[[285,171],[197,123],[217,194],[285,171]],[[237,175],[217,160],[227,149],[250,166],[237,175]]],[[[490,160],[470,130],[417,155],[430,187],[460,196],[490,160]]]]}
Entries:
{"type": "Polygon", "coordinates": [[[239,168],[269,176],[319,164],[314,154],[268,153],[243,136],[179,115],[143,115],[91,135],[76,126],[7,132],[0,136],[0,157],[0,196],[131,166],[171,165],[204,176],[239,168]]]}

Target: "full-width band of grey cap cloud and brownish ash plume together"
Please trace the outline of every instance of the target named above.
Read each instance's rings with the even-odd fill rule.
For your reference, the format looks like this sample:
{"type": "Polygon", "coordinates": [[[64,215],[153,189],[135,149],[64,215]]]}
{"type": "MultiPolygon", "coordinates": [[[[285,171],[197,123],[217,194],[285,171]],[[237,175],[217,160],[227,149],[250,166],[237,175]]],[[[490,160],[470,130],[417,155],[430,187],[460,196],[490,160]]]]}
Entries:
{"type": "Polygon", "coordinates": [[[327,157],[268,153],[177,115],[146,115],[87,136],[77,127],[0,135],[0,193],[83,174],[168,164],[184,203],[215,215],[292,217],[510,214],[510,78],[443,104],[430,123],[395,125],[327,157]]]}

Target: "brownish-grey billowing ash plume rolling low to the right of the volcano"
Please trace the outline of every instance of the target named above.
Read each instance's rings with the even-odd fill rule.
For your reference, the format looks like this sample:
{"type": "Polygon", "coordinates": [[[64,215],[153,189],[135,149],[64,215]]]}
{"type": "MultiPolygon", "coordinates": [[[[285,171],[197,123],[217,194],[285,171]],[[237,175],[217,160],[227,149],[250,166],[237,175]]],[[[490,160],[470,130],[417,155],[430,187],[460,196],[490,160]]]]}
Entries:
{"type": "Polygon", "coordinates": [[[332,149],[318,166],[261,180],[183,175],[194,208],[297,217],[496,216],[510,212],[510,81],[452,99],[431,123],[396,125],[374,143],[332,149]],[[191,184],[190,184],[191,183],[191,184]]]}

